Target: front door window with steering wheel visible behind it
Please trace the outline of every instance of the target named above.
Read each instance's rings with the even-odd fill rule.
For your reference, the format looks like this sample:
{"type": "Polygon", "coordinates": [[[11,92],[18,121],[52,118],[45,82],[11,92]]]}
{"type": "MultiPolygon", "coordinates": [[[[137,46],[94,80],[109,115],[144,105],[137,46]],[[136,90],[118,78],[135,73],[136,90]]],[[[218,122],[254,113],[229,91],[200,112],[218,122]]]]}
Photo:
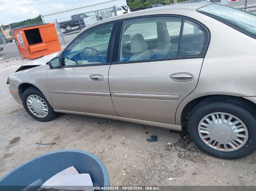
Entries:
{"type": "Polygon", "coordinates": [[[114,23],[85,31],[63,53],[63,65],[106,63],[108,43],[114,23]]]}

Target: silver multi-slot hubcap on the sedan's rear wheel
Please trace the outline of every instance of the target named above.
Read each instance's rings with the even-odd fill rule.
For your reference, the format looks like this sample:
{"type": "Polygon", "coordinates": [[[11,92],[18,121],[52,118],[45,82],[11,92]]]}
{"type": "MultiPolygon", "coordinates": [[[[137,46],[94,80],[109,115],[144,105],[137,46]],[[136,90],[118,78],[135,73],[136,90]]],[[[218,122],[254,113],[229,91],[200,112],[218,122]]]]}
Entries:
{"type": "Polygon", "coordinates": [[[248,130],[237,117],[228,113],[211,113],[204,116],[198,125],[202,141],[219,151],[234,151],[242,148],[248,139],[248,130]]]}

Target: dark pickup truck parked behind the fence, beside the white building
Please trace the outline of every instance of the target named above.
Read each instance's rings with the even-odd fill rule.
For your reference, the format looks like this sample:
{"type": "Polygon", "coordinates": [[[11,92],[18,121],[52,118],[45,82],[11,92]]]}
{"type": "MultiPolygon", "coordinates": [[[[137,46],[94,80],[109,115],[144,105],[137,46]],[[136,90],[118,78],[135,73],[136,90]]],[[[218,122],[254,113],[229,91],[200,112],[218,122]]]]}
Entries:
{"type": "Polygon", "coordinates": [[[85,27],[84,18],[88,17],[86,14],[75,14],[71,16],[70,21],[59,22],[59,27],[66,31],[72,30],[73,27],[85,27]]]}

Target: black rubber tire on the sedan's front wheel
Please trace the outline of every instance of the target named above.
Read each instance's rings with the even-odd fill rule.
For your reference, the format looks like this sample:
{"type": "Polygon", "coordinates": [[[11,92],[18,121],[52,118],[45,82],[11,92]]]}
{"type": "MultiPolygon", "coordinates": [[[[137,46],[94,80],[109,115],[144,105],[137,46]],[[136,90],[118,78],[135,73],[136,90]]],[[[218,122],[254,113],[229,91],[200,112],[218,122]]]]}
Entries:
{"type": "MultiPolygon", "coordinates": [[[[34,102],[36,102],[36,101],[34,101],[34,102]]],[[[33,102],[33,103],[34,103],[33,102]]],[[[45,96],[42,94],[42,92],[41,91],[39,91],[36,87],[34,87],[34,86],[32,86],[32,87],[30,87],[30,88],[28,88],[28,89],[26,89],[25,91],[24,91],[24,93],[22,94],[22,104],[23,104],[23,107],[25,108],[25,110],[27,111],[27,113],[30,115],[30,116],[32,116],[34,119],[36,119],[36,120],[38,120],[38,121],[43,121],[43,122],[46,122],[46,121],[51,121],[52,119],[54,119],[56,116],[57,116],[57,113],[53,110],[53,108],[52,108],[52,106],[49,104],[49,102],[46,100],[46,98],[45,98],[45,96]],[[42,104],[39,104],[39,103],[35,103],[34,105],[32,105],[33,107],[37,107],[37,108],[41,108],[41,111],[42,111],[42,108],[45,108],[46,109],[46,107],[45,107],[45,105],[47,106],[47,109],[48,109],[48,113],[47,114],[45,114],[45,113],[43,113],[43,112],[41,112],[41,111],[39,111],[38,113],[37,113],[37,111],[35,110],[35,109],[37,109],[37,108],[35,108],[35,109],[32,109],[34,112],[32,113],[32,111],[29,109],[29,106],[28,106],[28,104],[31,104],[31,103],[29,103],[29,101],[28,101],[28,104],[27,104],[27,99],[28,99],[28,97],[33,97],[33,98],[36,98],[36,99],[38,99],[38,97],[36,97],[36,96],[38,96],[38,97],[40,97],[41,99],[41,101],[44,101],[43,102],[43,106],[44,107],[42,107],[42,104]],[[35,113],[35,114],[34,114],[35,113]],[[41,116],[40,116],[40,114],[41,114],[41,116]],[[44,116],[45,115],[45,116],[44,116]]],[[[32,107],[32,108],[33,108],[32,107]]],[[[44,111],[44,112],[46,112],[46,111],[44,111]]]]}

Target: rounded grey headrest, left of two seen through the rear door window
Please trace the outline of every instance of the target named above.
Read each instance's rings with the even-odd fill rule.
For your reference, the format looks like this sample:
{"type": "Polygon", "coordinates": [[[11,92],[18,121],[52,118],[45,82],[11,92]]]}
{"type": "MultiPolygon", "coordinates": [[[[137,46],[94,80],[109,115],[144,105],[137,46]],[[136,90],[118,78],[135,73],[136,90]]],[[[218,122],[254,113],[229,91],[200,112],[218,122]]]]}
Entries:
{"type": "Polygon", "coordinates": [[[148,44],[144,40],[141,34],[135,34],[131,37],[131,53],[141,53],[148,48],[148,44]]]}

